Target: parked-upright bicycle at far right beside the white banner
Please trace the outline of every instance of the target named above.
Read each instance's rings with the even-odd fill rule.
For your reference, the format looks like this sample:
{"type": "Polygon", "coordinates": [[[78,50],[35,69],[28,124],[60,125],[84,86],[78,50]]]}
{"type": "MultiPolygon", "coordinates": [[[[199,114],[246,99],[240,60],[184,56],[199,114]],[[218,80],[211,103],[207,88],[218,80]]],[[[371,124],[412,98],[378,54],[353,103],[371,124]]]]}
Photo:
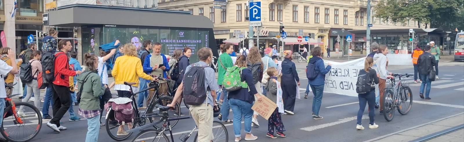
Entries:
{"type": "Polygon", "coordinates": [[[385,88],[382,98],[383,103],[383,116],[387,121],[392,121],[395,115],[395,110],[401,115],[406,115],[412,107],[412,91],[408,85],[404,84],[401,77],[411,77],[409,74],[392,74],[393,77],[388,78],[391,86],[385,88]],[[395,78],[399,77],[400,82],[395,83],[395,78]]]}

